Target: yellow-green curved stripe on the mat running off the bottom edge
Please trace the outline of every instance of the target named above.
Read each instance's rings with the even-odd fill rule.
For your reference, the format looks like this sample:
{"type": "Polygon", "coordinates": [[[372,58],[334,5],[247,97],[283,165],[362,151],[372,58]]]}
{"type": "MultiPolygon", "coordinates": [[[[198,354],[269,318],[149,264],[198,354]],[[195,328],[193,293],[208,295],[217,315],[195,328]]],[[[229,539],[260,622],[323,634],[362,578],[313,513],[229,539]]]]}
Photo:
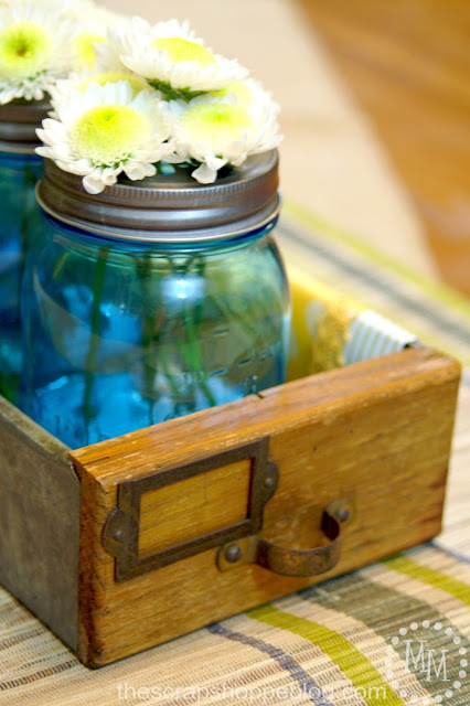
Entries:
{"type": "Polygon", "coordinates": [[[384,682],[372,662],[339,632],[306,618],[284,612],[273,606],[255,608],[247,614],[258,622],[300,635],[320,648],[350,678],[354,688],[357,689],[357,694],[370,706],[383,706],[383,704],[404,706],[402,698],[384,682]]]}

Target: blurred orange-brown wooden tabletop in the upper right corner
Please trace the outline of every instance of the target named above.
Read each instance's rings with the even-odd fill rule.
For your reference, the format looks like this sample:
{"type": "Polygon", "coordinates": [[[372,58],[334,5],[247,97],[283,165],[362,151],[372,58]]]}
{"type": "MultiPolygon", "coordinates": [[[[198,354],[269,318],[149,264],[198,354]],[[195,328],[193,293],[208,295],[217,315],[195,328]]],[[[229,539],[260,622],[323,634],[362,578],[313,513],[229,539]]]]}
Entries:
{"type": "Polygon", "coordinates": [[[297,0],[374,121],[445,281],[470,295],[468,0],[297,0]]]}

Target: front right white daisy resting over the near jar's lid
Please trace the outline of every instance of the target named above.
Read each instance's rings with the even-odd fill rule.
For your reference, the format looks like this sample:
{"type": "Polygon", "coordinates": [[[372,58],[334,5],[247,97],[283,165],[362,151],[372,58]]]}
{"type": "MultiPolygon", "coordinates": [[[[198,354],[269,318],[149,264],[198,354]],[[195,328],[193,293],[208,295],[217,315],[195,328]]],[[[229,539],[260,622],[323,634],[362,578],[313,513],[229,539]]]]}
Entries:
{"type": "Polygon", "coordinates": [[[177,154],[200,162],[192,175],[203,184],[213,183],[223,167],[239,167],[250,154],[271,150],[282,140],[279,106],[256,82],[223,96],[171,101],[168,110],[173,115],[177,154]]]}

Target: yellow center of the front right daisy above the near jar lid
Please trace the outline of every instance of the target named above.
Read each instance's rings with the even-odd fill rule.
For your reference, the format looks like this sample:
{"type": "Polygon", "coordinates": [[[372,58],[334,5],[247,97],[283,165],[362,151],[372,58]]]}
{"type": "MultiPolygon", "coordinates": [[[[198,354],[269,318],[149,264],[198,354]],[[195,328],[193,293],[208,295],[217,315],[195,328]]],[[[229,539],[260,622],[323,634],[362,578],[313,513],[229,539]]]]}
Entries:
{"type": "Polygon", "coordinates": [[[213,103],[189,108],[181,125],[191,141],[210,145],[215,154],[222,154],[231,142],[243,139],[253,119],[244,108],[213,103]]]}

